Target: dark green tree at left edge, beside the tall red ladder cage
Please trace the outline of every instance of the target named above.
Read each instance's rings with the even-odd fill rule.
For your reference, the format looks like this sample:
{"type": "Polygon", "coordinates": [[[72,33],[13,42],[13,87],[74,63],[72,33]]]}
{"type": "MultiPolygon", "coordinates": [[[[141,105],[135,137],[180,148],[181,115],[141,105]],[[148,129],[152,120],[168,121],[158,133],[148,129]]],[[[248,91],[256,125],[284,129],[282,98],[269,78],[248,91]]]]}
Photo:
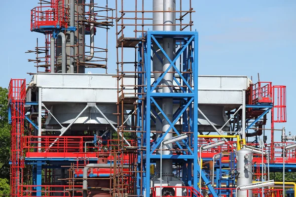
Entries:
{"type": "Polygon", "coordinates": [[[10,125],[8,124],[7,95],[7,89],[0,87],[0,178],[9,180],[10,125]]]}

